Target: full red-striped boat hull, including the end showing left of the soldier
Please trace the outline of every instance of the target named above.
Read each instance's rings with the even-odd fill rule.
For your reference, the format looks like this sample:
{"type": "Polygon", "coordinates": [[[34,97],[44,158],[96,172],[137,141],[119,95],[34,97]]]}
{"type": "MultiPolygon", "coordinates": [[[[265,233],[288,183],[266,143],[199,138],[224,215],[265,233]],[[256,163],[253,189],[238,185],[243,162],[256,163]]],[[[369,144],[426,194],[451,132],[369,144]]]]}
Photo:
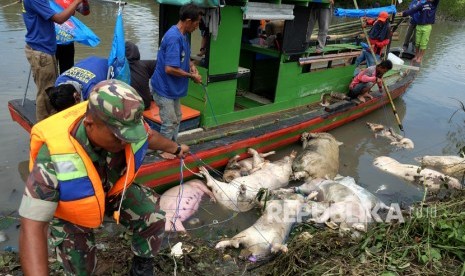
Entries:
{"type": "MultiPolygon", "coordinates": [[[[405,93],[415,75],[416,73],[411,71],[388,85],[393,99],[405,93]]],[[[218,169],[224,167],[235,155],[246,157],[249,147],[259,152],[282,148],[298,141],[303,132],[328,131],[389,104],[385,93],[374,92],[373,95],[375,96],[373,100],[358,105],[351,101],[344,101],[339,108],[320,107],[317,110],[297,113],[295,116],[284,119],[282,117],[286,116],[278,116],[253,126],[247,127],[244,124],[242,128],[240,125],[242,123],[239,122],[236,123],[239,126],[236,131],[224,130],[220,131],[221,134],[207,135],[202,139],[181,137],[180,142],[189,144],[192,152],[183,160],[183,165],[180,164],[179,159],[163,160],[156,155],[149,154],[138,172],[136,181],[163,191],[172,185],[179,184],[181,179],[192,177],[193,173],[198,171],[199,166],[218,169]]],[[[11,117],[30,132],[34,122],[29,118],[30,116],[25,115],[25,112],[30,113],[30,110],[26,111],[26,109],[34,105],[34,102],[26,100],[24,106],[20,103],[21,100],[12,100],[8,103],[11,117]]]]}

